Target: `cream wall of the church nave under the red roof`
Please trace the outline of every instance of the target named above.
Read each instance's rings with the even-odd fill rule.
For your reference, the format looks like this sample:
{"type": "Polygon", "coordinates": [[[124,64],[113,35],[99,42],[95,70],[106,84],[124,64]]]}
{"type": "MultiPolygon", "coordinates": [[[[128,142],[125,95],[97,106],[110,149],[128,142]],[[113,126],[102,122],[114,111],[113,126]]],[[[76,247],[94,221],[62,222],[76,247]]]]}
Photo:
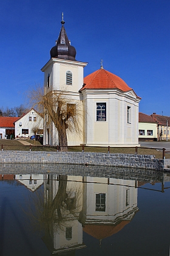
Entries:
{"type": "Polygon", "coordinates": [[[82,94],[86,115],[84,144],[87,146],[138,145],[138,102],[140,100],[134,91],[83,90],[82,94]],[[97,121],[98,103],[106,104],[106,119],[100,122],[97,121]]]}

